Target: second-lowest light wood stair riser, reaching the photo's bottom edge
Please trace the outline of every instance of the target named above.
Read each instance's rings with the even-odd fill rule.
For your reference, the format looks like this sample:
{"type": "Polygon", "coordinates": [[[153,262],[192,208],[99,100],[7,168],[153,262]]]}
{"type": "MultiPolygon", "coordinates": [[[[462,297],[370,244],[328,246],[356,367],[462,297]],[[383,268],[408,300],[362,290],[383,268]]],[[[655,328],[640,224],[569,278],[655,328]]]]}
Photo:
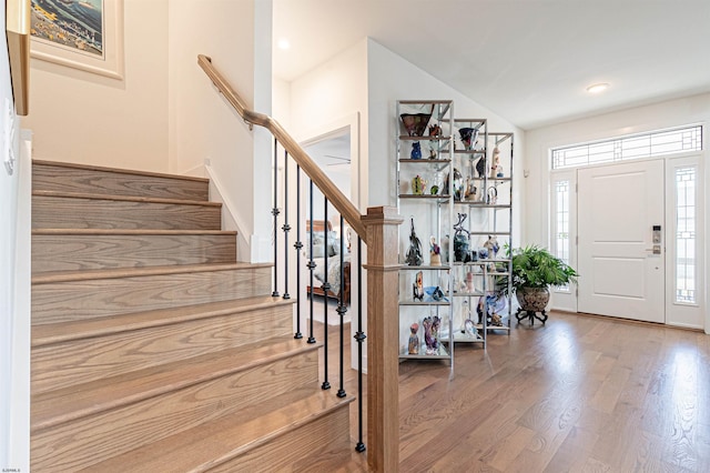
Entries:
{"type": "MultiPolygon", "coordinates": [[[[235,361],[235,364],[237,361],[235,361]]],[[[31,440],[32,471],[78,471],[287,390],[317,384],[317,351],[68,422],[31,440]]],[[[156,452],[158,453],[158,452],[156,452]]]]}

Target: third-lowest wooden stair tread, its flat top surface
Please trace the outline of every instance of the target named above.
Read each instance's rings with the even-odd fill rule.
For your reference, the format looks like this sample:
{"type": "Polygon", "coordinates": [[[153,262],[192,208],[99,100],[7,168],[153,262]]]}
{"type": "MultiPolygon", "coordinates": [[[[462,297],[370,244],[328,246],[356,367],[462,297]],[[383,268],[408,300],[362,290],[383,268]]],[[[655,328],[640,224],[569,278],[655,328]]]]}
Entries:
{"type": "Polygon", "coordinates": [[[274,305],[293,304],[293,300],[271,295],[210,302],[171,309],[135,312],[85,321],[49,323],[32,328],[32,348],[71,340],[102,336],[112,333],[182,323],[226,314],[237,314],[274,305]]]}

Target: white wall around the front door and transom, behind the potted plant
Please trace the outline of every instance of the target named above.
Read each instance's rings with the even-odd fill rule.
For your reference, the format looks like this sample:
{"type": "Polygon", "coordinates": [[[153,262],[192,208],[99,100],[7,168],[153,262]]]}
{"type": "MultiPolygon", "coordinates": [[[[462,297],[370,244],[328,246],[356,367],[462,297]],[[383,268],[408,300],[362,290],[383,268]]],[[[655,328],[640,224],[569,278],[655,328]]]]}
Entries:
{"type": "MultiPolygon", "coordinates": [[[[708,157],[707,125],[710,123],[710,93],[665,101],[646,107],[621,110],[612,113],[575,120],[545,127],[526,133],[527,179],[525,200],[538,202],[530,205],[525,220],[528,243],[547,245],[549,241],[549,149],[585,141],[606,139],[623,134],[640,133],[663,128],[691,123],[706,124],[703,158],[708,157]]],[[[710,167],[704,167],[704,189],[710,184],[710,167]]],[[[706,192],[706,224],[710,212],[710,193],[706,192]]],[[[707,241],[708,228],[704,229],[707,241]]],[[[704,254],[708,253],[706,248],[704,254]]],[[[706,281],[710,264],[706,260],[706,281]]],[[[706,294],[707,296],[707,294],[706,294]]],[[[707,308],[707,304],[704,304],[707,308]]],[[[706,314],[706,332],[710,333],[710,314],[706,314]]]]}

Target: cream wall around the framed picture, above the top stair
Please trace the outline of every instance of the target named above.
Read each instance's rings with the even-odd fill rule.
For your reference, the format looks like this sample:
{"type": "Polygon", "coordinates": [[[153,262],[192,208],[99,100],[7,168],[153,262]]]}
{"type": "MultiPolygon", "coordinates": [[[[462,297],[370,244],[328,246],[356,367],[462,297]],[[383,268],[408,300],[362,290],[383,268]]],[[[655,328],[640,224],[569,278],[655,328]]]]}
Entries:
{"type": "Polygon", "coordinates": [[[168,171],[168,0],[123,3],[123,80],[32,59],[34,158],[168,171]]]}

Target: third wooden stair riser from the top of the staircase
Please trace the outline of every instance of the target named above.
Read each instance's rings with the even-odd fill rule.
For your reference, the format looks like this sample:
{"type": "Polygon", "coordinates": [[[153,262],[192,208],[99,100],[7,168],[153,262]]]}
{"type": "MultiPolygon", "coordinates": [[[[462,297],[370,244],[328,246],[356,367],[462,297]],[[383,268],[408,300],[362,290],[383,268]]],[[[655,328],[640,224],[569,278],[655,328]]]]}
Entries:
{"type": "Polygon", "coordinates": [[[32,236],[33,274],[234,261],[234,234],[32,236]]]}

